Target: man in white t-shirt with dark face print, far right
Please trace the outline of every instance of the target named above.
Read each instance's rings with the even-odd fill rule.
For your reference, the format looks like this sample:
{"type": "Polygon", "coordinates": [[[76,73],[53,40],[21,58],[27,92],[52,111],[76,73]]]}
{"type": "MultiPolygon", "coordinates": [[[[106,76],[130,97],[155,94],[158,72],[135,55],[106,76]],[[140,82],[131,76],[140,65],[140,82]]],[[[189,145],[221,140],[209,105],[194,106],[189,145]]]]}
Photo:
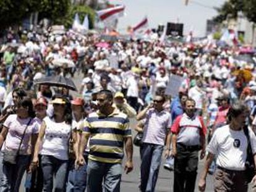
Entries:
{"type": "Polygon", "coordinates": [[[249,144],[247,136],[250,138],[254,159],[252,161],[256,164],[256,136],[250,128],[245,127],[247,106],[242,102],[236,102],[230,107],[227,116],[230,123],[218,128],[208,144],[207,160],[198,183],[199,191],[205,191],[207,172],[214,157],[217,164],[215,191],[245,192],[248,190],[248,183],[256,182],[256,176],[252,181],[248,181],[245,171],[249,144]]]}

